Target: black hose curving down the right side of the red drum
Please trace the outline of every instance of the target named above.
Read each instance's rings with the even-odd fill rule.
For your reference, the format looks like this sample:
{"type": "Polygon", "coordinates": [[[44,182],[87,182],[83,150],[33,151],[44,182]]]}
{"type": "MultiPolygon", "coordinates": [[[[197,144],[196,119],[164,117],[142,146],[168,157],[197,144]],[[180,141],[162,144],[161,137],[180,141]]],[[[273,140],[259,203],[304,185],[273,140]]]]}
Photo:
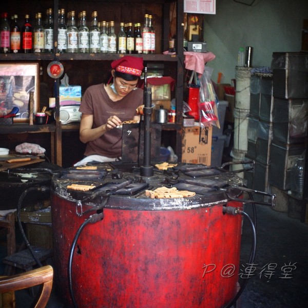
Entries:
{"type": "MultiPolygon", "coordinates": [[[[255,227],[253,220],[251,219],[251,217],[247,213],[245,213],[244,211],[239,210],[235,207],[228,206],[228,207],[224,207],[223,209],[224,209],[225,213],[229,213],[229,214],[233,214],[233,215],[241,214],[242,216],[246,217],[248,219],[249,223],[251,224],[252,231],[253,231],[253,245],[252,245],[251,254],[250,254],[250,257],[249,257],[248,264],[254,263],[255,257],[256,257],[256,248],[257,248],[257,233],[256,233],[256,227],[255,227]],[[230,208],[233,208],[234,210],[230,209],[230,208]]],[[[248,279],[245,279],[243,284],[240,287],[239,292],[236,294],[236,296],[233,298],[233,300],[229,304],[224,306],[223,308],[230,308],[236,303],[236,301],[242,295],[242,293],[243,293],[243,291],[246,287],[247,282],[248,282],[248,279]]]]}

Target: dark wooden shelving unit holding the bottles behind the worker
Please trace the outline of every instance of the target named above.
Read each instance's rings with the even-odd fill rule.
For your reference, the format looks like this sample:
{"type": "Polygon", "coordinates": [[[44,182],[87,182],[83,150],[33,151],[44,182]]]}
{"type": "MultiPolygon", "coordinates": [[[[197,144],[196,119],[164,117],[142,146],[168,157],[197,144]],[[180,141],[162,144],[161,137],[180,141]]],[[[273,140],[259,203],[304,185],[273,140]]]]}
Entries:
{"type": "MultiPolygon", "coordinates": [[[[92,1],[79,1],[79,0],[43,0],[43,1],[21,1],[16,0],[12,3],[6,2],[1,8],[1,11],[7,11],[9,16],[12,14],[18,14],[18,20],[20,24],[24,20],[25,14],[30,14],[32,20],[35,13],[42,12],[45,15],[46,9],[53,8],[54,12],[54,29],[57,29],[57,17],[58,9],[64,8],[66,12],[75,10],[76,13],[86,10],[88,21],[92,11],[98,11],[99,21],[114,20],[115,32],[119,31],[120,22],[140,22],[143,24],[143,18],[145,13],[153,15],[153,21],[156,29],[156,54],[142,54],[133,56],[142,56],[145,65],[148,63],[161,63],[164,64],[164,74],[170,75],[176,80],[175,91],[172,93],[176,98],[177,106],[177,122],[175,124],[163,124],[163,136],[162,139],[169,142],[167,145],[171,145],[176,154],[181,160],[181,133],[182,133],[182,102],[183,102],[183,81],[184,81],[184,55],[183,55],[183,19],[184,19],[184,4],[183,0],[168,1],[168,0],[92,0],[92,1]],[[172,10],[172,11],[171,11],[172,10]],[[171,13],[170,13],[171,12],[171,13]],[[168,50],[168,38],[170,35],[170,15],[176,15],[176,26],[174,34],[177,35],[177,54],[169,55],[162,52],[168,50]]],[[[58,53],[56,48],[57,31],[54,31],[54,46],[55,50],[53,54],[0,54],[1,62],[27,62],[37,61],[43,68],[43,74],[41,76],[41,82],[48,85],[48,94],[56,97],[56,109],[55,109],[55,124],[48,125],[43,128],[33,128],[30,125],[25,124],[23,132],[40,132],[44,130],[51,133],[51,138],[54,138],[52,146],[51,157],[58,165],[62,165],[62,137],[63,133],[71,130],[78,130],[78,125],[61,125],[59,120],[59,91],[54,91],[54,86],[59,86],[59,80],[53,80],[47,75],[47,66],[53,61],[60,61],[64,66],[64,72],[69,76],[70,84],[79,84],[82,86],[83,92],[85,89],[92,85],[102,82],[102,74],[110,69],[110,63],[118,59],[119,54],[102,54],[102,53],[58,53]],[[53,95],[54,92],[56,95],[53,95]]],[[[42,93],[41,93],[42,94],[42,93]]],[[[42,102],[41,102],[42,103],[42,102]]],[[[16,128],[6,127],[6,133],[16,132],[16,128]]],[[[0,128],[1,129],[1,128],[0,128]]]]}

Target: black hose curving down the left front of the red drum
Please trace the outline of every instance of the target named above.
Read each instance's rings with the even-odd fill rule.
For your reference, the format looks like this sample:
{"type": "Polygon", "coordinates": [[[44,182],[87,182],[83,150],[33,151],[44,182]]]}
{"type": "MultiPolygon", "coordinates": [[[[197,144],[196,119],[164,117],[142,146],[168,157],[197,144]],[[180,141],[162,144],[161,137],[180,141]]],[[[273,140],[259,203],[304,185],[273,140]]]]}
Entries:
{"type": "Polygon", "coordinates": [[[70,252],[69,252],[69,259],[68,259],[68,266],[67,266],[67,271],[68,271],[68,286],[69,286],[69,294],[70,294],[70,298],[72,300],[73,306],[75,308],[78,308],[76,300],[75,300],[75,296],[74,296],[74,292],[73,292],[73,287],[72,287],[72,263],[73,263],[73,254],[74,254],[74,250],[75,250],[75,246],[76,243],[79,239],[79,236],[81,235],[83,229],[85,228],[85,226],[89,223],[95,223],[98,222],[100,220],[103,219],[103,213],[100,214],[93,214],[91,215],[88,219],[86,219],[82,225],[79,227],[79,229],[77,230],[71,248],[70,248],[70,252]]]}

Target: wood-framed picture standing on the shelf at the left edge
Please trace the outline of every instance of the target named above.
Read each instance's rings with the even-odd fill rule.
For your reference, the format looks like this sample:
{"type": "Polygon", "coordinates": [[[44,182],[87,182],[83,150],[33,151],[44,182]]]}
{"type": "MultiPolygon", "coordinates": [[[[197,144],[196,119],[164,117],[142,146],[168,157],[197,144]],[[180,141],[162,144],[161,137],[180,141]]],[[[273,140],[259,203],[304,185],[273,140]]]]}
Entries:
{"type": "Polygon", "coordinates": [[[0,63],[0,111],[17,107],[14,122],[29,122],[30,112],[37,111],[39,72],[38,63],[0,63]]]}

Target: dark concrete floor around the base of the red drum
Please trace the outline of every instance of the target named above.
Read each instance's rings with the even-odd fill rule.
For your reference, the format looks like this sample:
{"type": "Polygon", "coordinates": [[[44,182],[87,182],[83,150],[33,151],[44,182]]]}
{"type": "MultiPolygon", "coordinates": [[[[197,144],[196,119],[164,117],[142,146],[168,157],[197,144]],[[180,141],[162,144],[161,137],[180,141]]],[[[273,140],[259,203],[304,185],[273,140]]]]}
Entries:
{"type": "MultiPolygon", "coordinates": [[[[273,210],[271,207],[257,205],[256,209],[257,253],[254,264],[251,264],[253,272],[249,275],[237,307],[307,307],[308,225],[298,219],[288,217],[286,213],[273,210]],[[291,267],[284,267],[290,264],[291,267]],[[285,272],[283,272],[284,268],[285,272]]],[[[252,205],[246,205],[245,211],[252,215],[252,205]]],[[[240,262],[243,270],[248,267],[251,244],[251,228],[245,219],[240,262]]],[[[247,274],[245,275],[247,277],[247,274]]],[[[243,281],[240,279],[240,283],[243,281]]],[[[26,307],[32,299],[27,291],[17,292],[16,297],[17,308],[26,307]]],[[[64,305],[53,292],[47,308],[62,307],[64,305]]]]}

